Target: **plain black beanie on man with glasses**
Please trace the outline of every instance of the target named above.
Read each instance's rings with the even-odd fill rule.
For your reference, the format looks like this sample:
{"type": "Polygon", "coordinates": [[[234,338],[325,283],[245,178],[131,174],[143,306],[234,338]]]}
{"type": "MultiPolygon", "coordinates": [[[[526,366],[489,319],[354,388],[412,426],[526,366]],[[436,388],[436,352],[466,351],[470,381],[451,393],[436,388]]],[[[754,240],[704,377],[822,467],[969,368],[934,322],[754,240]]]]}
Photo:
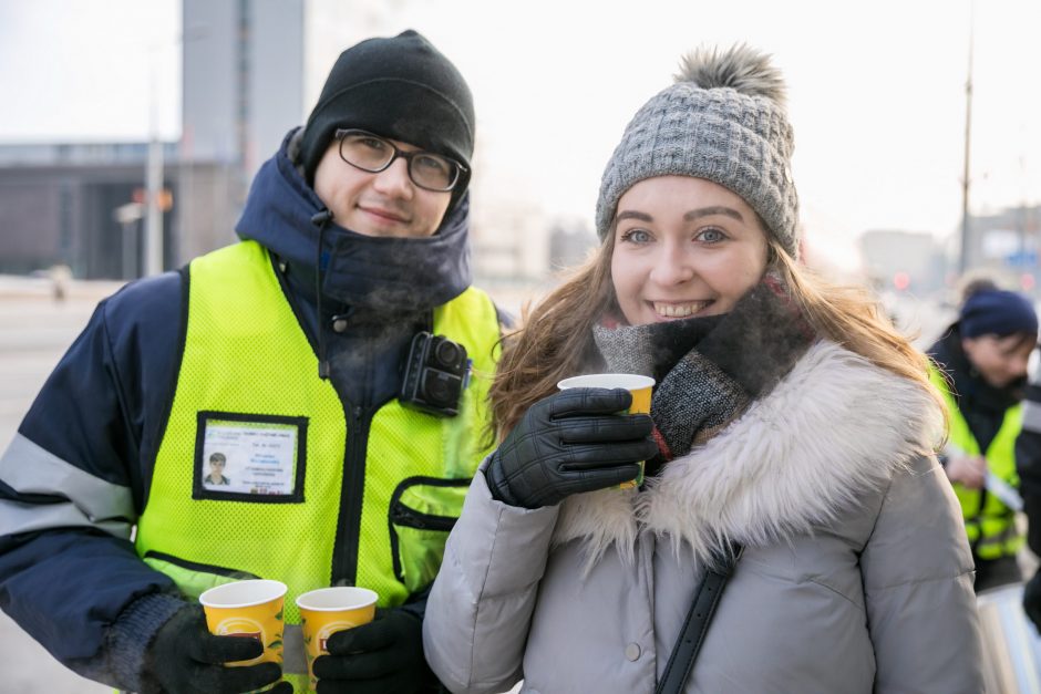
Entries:
{"type": "Polygon", "coordinates": [[[368,39],[342,53],[307,120],[300,160],[308,183],[337,128],[357,127],[463,164],[452,205],[470,183],[474,104],[470,87],[441,51],[416,31],[368,39]]]}

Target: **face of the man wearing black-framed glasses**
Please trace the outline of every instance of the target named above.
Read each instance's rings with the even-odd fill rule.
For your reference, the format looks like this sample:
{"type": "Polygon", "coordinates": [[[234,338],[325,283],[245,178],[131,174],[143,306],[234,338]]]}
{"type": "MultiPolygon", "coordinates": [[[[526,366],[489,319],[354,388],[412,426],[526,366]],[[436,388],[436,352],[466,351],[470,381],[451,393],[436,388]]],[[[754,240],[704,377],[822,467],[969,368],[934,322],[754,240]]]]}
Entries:
{"type": "MultiPolygon", "coordinates": [[[[408,143],[392,139],[412,152],[408,143]]],[[[409,178],[409,163],[396,158],[377,174],[351,166],[333,139],[315,170],[315,193],[333,214],[338,225],[364,236],[422,238],[441,226],[451,191],[426,190],[409,178]]]]}

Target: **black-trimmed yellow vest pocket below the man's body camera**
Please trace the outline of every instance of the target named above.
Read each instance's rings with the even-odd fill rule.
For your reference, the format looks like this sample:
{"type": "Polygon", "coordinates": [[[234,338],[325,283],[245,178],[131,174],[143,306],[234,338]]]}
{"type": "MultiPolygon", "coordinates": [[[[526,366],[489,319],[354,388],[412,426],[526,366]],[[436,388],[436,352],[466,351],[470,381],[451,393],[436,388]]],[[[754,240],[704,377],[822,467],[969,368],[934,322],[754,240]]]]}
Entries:
{"type": "Polygon", "coordinates": [[[422,591],[437,576],[470,481],[409,477],[394,489],[389,509],[391,556],[394,576],[410,593],[422,591]]]}

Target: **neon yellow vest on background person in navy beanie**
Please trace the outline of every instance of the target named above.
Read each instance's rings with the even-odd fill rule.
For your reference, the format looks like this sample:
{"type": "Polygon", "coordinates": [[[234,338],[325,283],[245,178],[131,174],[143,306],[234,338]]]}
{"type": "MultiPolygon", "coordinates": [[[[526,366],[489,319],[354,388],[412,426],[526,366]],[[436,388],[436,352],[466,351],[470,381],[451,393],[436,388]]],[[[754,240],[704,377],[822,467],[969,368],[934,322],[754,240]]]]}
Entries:
{"type": "MultiPolygon", "coordinates": [[[[947,408],[950,411],[950,435],[948,448],[954,455],[980,455],[979,444],[969,428],[958,403],[950,392],[946,376],[930,364],[929,379],[940,391],[947,408]]],[[[1016,473],[1016,438],[1022,428],[1022,405],[1009,407],[1001,421],[1001,427],[987,447],[987,468],[991,474],[1013,488],[1019,488],[1016,473]]],[[[966,532],[973,552],[982,559],[998,559],[1014,556],[1022,547],[1023,538],[1016,529],[1016,514],[993,494],[983,495],[979,489],[969,489],[959,483],[952,483],[961,515],[965,518],[966,532]],[[980,508],[982,499],[983,507],[980,508]]]]}

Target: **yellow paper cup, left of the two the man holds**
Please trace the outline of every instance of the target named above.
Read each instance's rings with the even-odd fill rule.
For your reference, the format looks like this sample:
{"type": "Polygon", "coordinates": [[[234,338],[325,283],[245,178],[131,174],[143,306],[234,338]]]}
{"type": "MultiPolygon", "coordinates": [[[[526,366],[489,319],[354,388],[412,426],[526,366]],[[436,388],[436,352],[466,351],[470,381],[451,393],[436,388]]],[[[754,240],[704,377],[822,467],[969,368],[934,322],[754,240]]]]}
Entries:
{"type": "Polygon", "coordinates": [[[225,583],[199,595],[209,633],[217,636],[247,636],[264,644],[264,653],[231,666],[282,662],[282,604],[286,584],[255,579],[225,583]]]}

